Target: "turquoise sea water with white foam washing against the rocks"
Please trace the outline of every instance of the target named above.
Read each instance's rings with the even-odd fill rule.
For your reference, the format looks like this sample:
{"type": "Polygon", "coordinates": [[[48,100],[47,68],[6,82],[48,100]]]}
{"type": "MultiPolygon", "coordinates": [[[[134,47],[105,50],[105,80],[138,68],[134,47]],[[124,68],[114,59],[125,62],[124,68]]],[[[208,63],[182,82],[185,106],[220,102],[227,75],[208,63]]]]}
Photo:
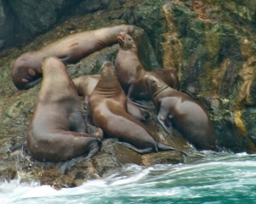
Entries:
{"type": "Polygon", "coordinates": [[[256,203],[256,155],[210,152],[189,164],[130,164],[61,190],[12,180],[0,183],[0,203],[256,203]]]}

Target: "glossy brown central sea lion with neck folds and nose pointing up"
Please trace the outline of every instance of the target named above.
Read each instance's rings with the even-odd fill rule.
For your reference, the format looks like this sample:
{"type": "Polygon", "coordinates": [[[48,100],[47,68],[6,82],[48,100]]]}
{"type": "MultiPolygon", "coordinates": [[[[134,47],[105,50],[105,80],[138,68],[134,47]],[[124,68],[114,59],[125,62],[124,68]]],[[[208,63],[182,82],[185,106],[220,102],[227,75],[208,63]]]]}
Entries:
{"type": "Polygon", "coordinates": [[[104,137],[117,138],[121,144],[140,154],[177,150],[156,142],[147,127],[126,112],[126,103],[124,90],[115,77],[112,63],[104,62],[100,80],[90,94],[88,120],[102,128],[104,137]]]}

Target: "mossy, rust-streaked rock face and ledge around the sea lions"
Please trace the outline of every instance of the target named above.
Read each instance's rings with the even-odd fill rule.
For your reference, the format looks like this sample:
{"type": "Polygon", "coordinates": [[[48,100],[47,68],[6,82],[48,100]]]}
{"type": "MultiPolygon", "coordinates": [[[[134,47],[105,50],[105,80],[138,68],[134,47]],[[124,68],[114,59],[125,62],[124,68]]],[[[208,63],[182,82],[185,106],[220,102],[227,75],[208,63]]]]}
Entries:
{"type": "MultiPolygon", "coordinates": [[[[26,128],[41,86],[39,83],[29,90],[18,91],[10,77],[13,61],[20,54],[75,32],[123,23],[137,26],[133,38],[144,68],[172,69],[180,78],[182,91],[207,109],[218,146],[234,152],[256,152],[255,1],[88,2],[0,0],[0,50],[6,48],[0,54],[1,180],[20,176],[23,181],[38,179],[41,184],[59,189],[104,177],[126,163],[151,166],[189,162],[191,158],[177,151],[141,156],[117,144],[115,139],[104,140],[101,152],[91,161],[73,167],[67,175],[60,173],[63,162],[34,161],[26,148],[7,153],[26,139],[26,128]],[[38,33],[41,35],[35,37],[38,33]],[[14,47],[18,44],[24,46],[14,47]]],[[[118,44],[103,48],[75,65],[67,65],[67,71],[71,77],[96,74],[103,61],[113,62],[118,48],[118,44]]],[[[145,125],[156,139],[201,155],[179,133],[166,134],[156,122],[155,111],[150,111],[150,115],[145,125]]]]}

